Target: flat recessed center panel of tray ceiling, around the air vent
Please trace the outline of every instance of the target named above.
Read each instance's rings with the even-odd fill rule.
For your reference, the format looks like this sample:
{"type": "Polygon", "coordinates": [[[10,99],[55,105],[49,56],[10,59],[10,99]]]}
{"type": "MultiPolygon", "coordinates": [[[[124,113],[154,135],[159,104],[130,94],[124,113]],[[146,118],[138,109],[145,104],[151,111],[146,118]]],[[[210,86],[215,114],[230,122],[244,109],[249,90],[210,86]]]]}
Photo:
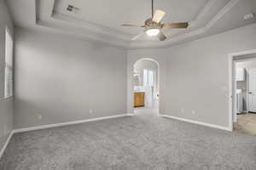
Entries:
{"type": "MultiPolygon", "coordinates": [[[[166,11],[164,22],[194,20],[201,8],[207,4],[207,0],[155,0],[154,2],[155,9],[166,11]]],[[[56,0],[55,12],[137,35],[142,28],[127,28],[120,25],[123,23],[143,25],[144,21],[151,17],[151,0],[56,0]],[[78,7],[79,11],[77,13],[67,11],[68,4],[78,7]]]]}

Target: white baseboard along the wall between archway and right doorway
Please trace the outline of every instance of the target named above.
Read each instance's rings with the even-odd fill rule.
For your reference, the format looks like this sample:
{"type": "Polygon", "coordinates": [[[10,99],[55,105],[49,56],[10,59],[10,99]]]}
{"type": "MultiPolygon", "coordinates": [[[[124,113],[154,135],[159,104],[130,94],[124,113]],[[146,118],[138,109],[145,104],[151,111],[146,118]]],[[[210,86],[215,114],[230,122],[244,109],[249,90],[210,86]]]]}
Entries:
{"type": "Polygon", "coordinates": [[[230,129],[230,127],[223,127],[223,126],[213,125],[213,124],[210,124],[210,123],[207,123],[207,122],[198,122],[198,121],[184,119],[184,118],[177,117],[177,116],[169,116],[169,115],[160,115],[160,116],[171,118],[171,119],[176,119],[178,121],[183,121],[183,122],[191,122],[191,123],[206,126],[206,127],[218,128],[218,129],[225,130],[225,131],[232,131],[232,129],[230,129]]]}

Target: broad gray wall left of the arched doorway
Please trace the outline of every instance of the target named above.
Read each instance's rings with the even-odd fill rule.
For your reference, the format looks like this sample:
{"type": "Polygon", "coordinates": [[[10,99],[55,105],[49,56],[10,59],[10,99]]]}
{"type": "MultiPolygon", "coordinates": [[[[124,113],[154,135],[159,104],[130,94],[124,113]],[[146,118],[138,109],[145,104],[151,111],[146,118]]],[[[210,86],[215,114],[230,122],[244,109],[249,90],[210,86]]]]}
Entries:
{"type": "Polygon", "coordinates": [[[15,128],[125,114],[126,65],[121,48],[15,29],[15,128]]]}

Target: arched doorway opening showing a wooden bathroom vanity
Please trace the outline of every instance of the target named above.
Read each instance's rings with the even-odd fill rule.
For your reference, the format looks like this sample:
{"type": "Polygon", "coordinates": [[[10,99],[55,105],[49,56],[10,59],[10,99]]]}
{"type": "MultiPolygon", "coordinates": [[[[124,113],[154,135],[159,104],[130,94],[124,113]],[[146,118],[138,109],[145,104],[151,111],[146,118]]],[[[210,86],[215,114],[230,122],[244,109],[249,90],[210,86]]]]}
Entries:
{"type": "Polygon", "coordinates": [[[133,114],[159,115],[160,69],[154,59],[138,59],[133,65],[133,114]]]}

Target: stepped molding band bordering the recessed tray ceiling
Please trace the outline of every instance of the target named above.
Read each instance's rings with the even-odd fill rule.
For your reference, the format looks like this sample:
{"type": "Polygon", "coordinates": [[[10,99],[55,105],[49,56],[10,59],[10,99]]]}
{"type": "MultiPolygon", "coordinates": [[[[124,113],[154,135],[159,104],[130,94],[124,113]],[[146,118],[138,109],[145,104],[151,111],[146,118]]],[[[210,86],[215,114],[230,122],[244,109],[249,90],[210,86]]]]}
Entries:
{"type": "MultiPolygon", "coordinates": [[[[84,39],[89,39],[93,41],[100,41],[108,43],[115,47],[121,48],[164,48],[177,44],[184,41],[189,41],[192,37],[201,37],[205,34],[218,20],[220,20],[224,14],[230,11],[236,3],[240,0],[229,0],[228,3],[224,3],[224,7],[221,8],[217,14],[214,14],[212,19],[201,25],[201,20],[207,16],[208,11],[216,3],[219,3],[218,0],[209,0],[207,4],[202,8],[202,10],[196,15],[195,20],[190,21],[189,29],[191,31],[177,31],[175,33],[168,34],[165,42],[159,41],[142,41],[138,40],[131,42],[131,37],[133,35],[127,34],[122,31],[117,31],[106,26],[100,26],[89,21],[79,20],[75,17],[71,17],[67,14],[61,14],[55,11],[55,0],[51,0],[51,9],[48,9],[48,14],[42,16],[40,14],[40,1],[36,1],[36,16],[37,16],[37,25],[44,26],[55,31],[60,30],[63,33],[69,35],[74,35],[77,37],[82,37],[84,39]]],[[[42,1],[42,0],[41,0],[42,1]]]]}

